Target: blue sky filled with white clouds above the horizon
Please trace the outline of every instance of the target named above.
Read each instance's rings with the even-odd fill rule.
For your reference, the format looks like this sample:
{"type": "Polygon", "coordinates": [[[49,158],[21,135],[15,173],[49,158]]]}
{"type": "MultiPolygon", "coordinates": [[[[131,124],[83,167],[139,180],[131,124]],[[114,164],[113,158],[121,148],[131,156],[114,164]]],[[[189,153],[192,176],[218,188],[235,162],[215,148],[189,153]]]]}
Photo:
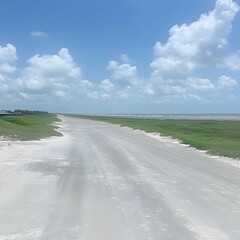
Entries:
{"type": "Polygon", "coordinates": [[[1,0],[0,109],[240,113],[240,0],[1,0]]]}

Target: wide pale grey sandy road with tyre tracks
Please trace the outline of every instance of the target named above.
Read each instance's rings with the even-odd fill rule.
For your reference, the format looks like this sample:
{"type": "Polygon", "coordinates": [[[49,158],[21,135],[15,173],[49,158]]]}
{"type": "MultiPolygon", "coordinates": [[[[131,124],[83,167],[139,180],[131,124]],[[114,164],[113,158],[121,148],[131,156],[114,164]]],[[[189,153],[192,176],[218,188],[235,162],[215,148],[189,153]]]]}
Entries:
{"type": "Polygon", "coordinates": [[[0,240],[240,239],[240,168],[61,118],[61,138],[0,143],[0,240]]]}

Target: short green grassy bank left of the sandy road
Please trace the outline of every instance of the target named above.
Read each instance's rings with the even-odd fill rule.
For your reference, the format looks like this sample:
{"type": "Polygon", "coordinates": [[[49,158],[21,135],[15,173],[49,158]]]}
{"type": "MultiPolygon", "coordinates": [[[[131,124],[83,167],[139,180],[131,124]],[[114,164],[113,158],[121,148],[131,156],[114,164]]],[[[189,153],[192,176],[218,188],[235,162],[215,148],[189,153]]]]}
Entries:
{"type": "Polygon", "coordinates": [[[56,115],[24,115],[0,117],[0,136],[21,140],[38,140],[51,136],[61,136],[52,126],[59,121],[56,115]]]}

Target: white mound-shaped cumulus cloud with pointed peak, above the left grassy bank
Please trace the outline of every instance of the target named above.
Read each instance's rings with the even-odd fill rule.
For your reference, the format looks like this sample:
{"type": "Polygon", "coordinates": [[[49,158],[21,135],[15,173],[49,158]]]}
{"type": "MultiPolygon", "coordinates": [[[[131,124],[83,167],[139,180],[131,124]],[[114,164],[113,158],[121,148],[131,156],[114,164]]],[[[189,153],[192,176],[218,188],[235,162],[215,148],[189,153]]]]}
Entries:
{"type": "Polygon", "coordinates": [[[32,98],[47,94],[52,98],[68,99],[87,96],[93,91],[93,84],[82,79],[81,68],[67,48],[62,48],[57,54],[31,57],[18,78],[18,86],[22,93],[32,98]]]}

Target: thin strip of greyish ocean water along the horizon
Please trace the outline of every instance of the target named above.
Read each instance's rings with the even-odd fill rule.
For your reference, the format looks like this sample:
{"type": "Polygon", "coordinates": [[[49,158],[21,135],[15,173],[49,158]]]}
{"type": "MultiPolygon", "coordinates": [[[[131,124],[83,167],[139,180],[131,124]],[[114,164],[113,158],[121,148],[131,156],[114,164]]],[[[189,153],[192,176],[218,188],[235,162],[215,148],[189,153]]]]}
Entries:
{"type": "Polygon", "coordinates": [[[240,121],[240,114],[111,114],[106,116],[143,118],[143,119],[188,119],[188,120],[218,120],[240,121]]]}

